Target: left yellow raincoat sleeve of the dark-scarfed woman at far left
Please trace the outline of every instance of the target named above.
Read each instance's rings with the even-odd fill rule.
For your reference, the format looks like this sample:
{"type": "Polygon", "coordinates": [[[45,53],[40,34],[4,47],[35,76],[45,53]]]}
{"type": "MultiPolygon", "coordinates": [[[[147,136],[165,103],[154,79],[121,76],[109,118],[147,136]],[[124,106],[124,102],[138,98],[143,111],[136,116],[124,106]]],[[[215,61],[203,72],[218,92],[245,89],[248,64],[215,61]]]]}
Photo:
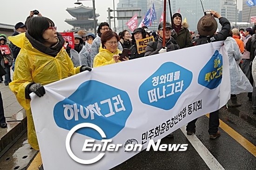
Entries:
{"type": "Polygon", "coordinates": [[[30,62],[27,57],[19,55],[16,59],[16,65],[19,67],[15,68],[13,81],[9,83],[9,88],[16,95],[20,105],[29,110],[30,100],[25,97],[25,88],[29,83],[33,82],[30,62]]]}

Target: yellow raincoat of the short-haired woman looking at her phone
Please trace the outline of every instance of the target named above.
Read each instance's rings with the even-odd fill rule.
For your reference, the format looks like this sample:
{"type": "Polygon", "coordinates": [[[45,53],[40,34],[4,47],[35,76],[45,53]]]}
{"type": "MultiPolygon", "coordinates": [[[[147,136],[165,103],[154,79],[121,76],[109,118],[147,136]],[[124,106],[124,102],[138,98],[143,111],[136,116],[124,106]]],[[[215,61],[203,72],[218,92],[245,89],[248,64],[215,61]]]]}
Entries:
{"type": "MultiPolygon", "coordinates": [[[[99,53],[94,58],[94,68],[115,63],[113,56],[119,55],[119,53],[122,53],[122,51],[116,49],[116,51],[112,53],[109,50],[100,47],[99,53]]],[[[118,62],[121,62],[121,61],[118,61],[118,62]]]]}

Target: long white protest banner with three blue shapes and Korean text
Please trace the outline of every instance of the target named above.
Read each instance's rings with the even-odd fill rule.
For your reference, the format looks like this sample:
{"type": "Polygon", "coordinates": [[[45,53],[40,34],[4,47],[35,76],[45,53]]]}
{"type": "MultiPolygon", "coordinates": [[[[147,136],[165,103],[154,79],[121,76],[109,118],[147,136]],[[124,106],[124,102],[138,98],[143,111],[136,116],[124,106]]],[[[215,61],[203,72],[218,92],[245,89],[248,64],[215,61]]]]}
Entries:
{"type": "Polygon", "coordinates": [[[227,52],[221,44],[94,68],[45,86],[41,98],[32,94],[31,109],[45,170],[113,168],[139,152],[125,151],[126,145],[143,144],[145,149],[149,139],[162,139],[224,106],[230,97],[230,78],[227,52]],[[106,134],[104,139],[112,139],[108,144],[120,147],[115,147],[117,151],[104,151],[104,146],[98,152],[87,151],[93,147],[84,145],[86,139],[103,145],[103,133],[79,129],[81,123],[99,126],[106,134]],[[70,141],[67,135],[72,137],[70,141]],[[87,164],[90,159],[100,160],[87,164]]]}

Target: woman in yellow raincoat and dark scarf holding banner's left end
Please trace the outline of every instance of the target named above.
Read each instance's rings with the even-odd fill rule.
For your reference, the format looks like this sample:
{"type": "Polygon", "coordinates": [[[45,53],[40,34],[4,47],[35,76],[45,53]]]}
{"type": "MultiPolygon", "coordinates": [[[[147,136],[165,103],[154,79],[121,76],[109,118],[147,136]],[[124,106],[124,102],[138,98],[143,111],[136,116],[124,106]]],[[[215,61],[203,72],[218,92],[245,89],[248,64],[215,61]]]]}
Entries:
{"type": "Polygon", "coordinates": [[[20,105],[26,109],[28,143],[37,150],[39,145],[29,94],[34,92],[41,97],[45,94],[43,85],[91,70],[86,66],[74,67],[63,48],[64,39],[56,30],[52,20],[38,16],[28,21],[25,33],[8,37],[21,49],[15,63],[13,82],[9,83],[9,87],[20,105]]]}

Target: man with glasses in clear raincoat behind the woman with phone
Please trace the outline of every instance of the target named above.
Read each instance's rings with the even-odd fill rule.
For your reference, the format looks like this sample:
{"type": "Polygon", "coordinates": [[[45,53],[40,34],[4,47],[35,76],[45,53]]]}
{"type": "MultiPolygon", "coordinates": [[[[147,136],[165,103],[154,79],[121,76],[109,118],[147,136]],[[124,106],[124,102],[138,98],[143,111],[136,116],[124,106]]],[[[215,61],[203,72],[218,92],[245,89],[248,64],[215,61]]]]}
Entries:
{"type": "MultiPolygon", "coordinates": [[[[94,57],[99,53],[99,49],[101,46],[101,35],[108,30],[110,30],[108,23],[101,22],[97,29],[98,37],[94,39],[93,44],[91,46],[91,67],[93,67],[94,65],[94,57]]],[[[118,49],[121,51],[123,50],[120,42],[118,42],[118,49]]]]}

